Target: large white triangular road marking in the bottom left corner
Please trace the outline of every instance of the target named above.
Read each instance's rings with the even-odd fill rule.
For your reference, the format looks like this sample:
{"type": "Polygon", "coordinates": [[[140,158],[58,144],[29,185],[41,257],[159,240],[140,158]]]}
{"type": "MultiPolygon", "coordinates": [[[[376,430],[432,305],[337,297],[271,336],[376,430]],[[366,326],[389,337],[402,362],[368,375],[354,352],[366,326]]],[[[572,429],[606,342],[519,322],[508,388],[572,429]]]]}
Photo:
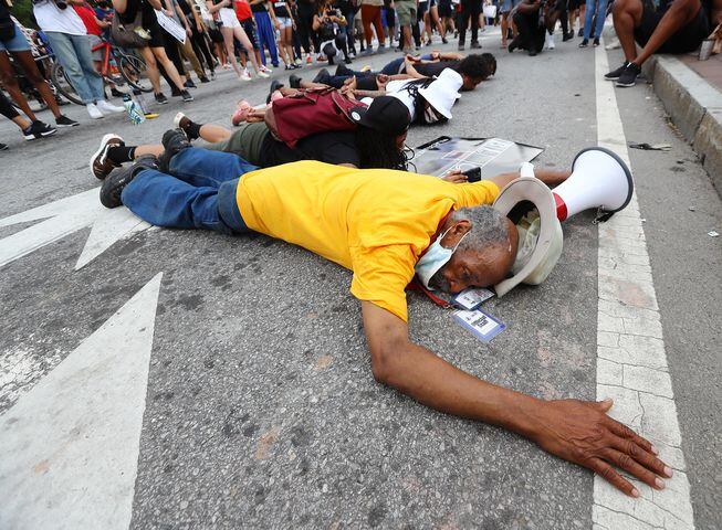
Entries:
{"type": "Polygon", "coordinates": [[[0,416],[0,528],[128,528],[161,277],[0,416]]]}

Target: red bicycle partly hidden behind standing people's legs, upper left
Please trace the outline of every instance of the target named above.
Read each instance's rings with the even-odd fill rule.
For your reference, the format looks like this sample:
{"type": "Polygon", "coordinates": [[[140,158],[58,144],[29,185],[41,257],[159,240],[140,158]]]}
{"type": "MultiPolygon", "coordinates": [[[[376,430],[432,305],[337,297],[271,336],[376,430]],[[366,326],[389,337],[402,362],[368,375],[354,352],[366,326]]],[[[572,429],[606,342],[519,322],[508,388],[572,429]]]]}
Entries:
{"type": "MultiPolygon", "coordinates": [[[[146,64],[143,59],[114,46],[106,40],[91,47],[91,52],[97,50],[103,51],[103,66],[100,74],[106,84],[128,84],[136,91],[153,92],[153,85],[145,76],[146,64]],[[111,60],[114,64],[111,63],[111,60]],[[117,77],[118,73],[121,74],[119,78],[117,77]]],[[[63,66],[57,61],[53,62],[50,77],[57,92],[76,105],[83,105],[63,66]]]]}

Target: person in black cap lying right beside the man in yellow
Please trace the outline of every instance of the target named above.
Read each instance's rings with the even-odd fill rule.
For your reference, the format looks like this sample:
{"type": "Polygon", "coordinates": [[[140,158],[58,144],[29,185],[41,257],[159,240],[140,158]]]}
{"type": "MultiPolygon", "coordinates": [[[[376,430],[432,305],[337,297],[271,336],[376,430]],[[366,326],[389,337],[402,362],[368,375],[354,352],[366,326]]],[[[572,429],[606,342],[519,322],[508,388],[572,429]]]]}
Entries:
{"type": "MultiPolygon", "coordinates": [[[[294,148],[271,135],[265,123],[243,124],[230,131],[220,125],[199,124],[178,113],[175,123],[184,138],[201,138],[208,150],[238,155],[253,166],[269,168],[297,160],[317,160],[352,168],[385,168],[406,170],[404,151],[410,125],[407,107],[395,97],[377,97],[365,107],[359,104],[350,113],[356,130],[316,132],[302,138],[294,148]]],[[[126,146],[117,135],[106,135],[91,158],[93,174],[98,179],[124,162],[144,155],[160,157],[163,145],[126,146]]]]}

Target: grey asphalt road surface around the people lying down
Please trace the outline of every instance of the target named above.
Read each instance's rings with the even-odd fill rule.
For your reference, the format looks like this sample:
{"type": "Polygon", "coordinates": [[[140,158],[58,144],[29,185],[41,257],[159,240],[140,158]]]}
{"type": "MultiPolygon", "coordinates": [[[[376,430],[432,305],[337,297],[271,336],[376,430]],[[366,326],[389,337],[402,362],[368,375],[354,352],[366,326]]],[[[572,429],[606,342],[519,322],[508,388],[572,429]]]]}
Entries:
{"type": "MultiPolygon", "coordinates": [[[[409,145],[441,135],[496,136],[543,147],[540,167],[568,167],[597,140],[594,53],[573,41],[537,57],[510,55],[499,50],[498,35],[484,35],[482,51],[496,55],[496,75],[463,94],[449,124],[412,128],[409,145]]],[[[609,61],[619,62],[619,52],[609,52],[609,61]]],[[[34,142],[1,123],[0,140],[11,149],[0,153],[0,237],[55,213],[7,226],[2,219],[96,187],[87,159],[105,132],[157,142],[178,109],[229,124],[236,100],[261,103],[266,89],[266,82],[240,84],[224,72],[193,91],[193,103],[158,107],[160,117],[140,126],[124,116],[91,121],[82,108],[64,107],[82,126],[34,142]]],[[[694,523],[720,528],[722,239],[707,233],[722,232],[722,205],[651,89],[618,89],[617,97],[628,140],[672,146],[630,155],[694,523]]],[[[545,399],[594,399],[592,221],[580,214],[564,224],[564,254],[547,282],[486,304],[508,326],[491,343],[410,295],[414,340],[498,384],[545,399]]],[[[117,403],[142,417],[130,528],[592,528],[590,473],[374,381],[347,271],[264,236],[172,230],[124,237],[75,271],[91,225],[0,268],[0,418],[163,273],[145,413],[117,403]]],[[[123,342],[108,340],[106,348],[123,351],[123,342]]],[[[71,476],[90,474],[91,456],[71,476]]],[[[0,475],[0,489],[8,484],[0,475]]]]}

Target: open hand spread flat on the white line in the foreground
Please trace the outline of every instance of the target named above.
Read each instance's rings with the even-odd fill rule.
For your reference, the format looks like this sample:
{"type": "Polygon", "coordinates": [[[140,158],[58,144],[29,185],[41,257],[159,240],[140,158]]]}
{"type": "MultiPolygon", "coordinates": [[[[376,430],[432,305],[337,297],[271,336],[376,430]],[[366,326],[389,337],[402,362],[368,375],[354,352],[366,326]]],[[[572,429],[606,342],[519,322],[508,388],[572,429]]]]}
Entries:
{"type": "Polygon", "coordinates": [[[542,427],[532,438],[544,451],[592,469],[630,497],[639,497],[639,491],[613,466],[663,489],[659,477],[671,477],[671,468],[655,456],[657,449],[649,441],[606,414],[611,405],[611,400],[544,402],[537,417],[542,427]]]}

